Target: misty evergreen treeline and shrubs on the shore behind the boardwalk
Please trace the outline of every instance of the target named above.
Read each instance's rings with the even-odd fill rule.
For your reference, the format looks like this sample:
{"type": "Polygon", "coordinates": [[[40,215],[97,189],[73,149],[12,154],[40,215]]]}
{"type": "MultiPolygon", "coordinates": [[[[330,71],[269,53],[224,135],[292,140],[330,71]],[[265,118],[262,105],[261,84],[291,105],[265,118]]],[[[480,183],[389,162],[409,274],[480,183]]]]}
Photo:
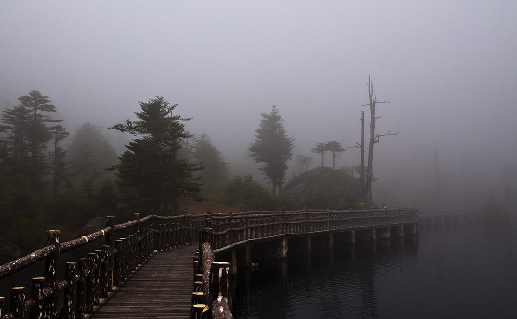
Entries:
{"type": "MultiPolygon", "coordinates": [[[[359,202],[365,204],[368,198],[364,163],[336,170],[334,160],[345,149],[334,140],[318,143],[311,150],[322,156],[322,174],[323,156],[329,152],[331,171],[339,171],[330,180],[362,182],[348,181],[345,184],[356,186],[346,189],[327,187],[326,194],[317,189],[300,193],[301,186],[290,187],[296,189],[296,196],[284,194],[294,138],[288,136],[274,105],[269,113],[261,114],[255,140],[248,147],[271,186],[268,190],[252,174],[232,177],[230,163],[210,137],[188,131],[186,124],[191,119],[177,115],[177,104],[169,104],[163,97],[139,102],[136,120],[108,128],[133,136],[118,155],[92,123],[67,131],[62,120],[55,118],[56,107],[50,98],[41,92],[33,90],[18,100],[19,105],[3,109],[1,117],[0,243],[16,243],[30,250],[44,245],[49,229],[61,230],[68,240],[94,217],[114,215],[117,220],[127,220],[134,212],[145,214],[151,209],[174,215],[196,202],[203,203],[197,204],[200,209],[229,211],[296,210],[308,203],[311,208],[326,209],[330,202],[333,209],[357,209],[362,207],[359,202]],[[330,194],[328,189],[342,193],[330,194]],[[357,195],[361,190],[362,195],[357,195]]],[[[306,173],[311,163],[311,157],[297,155],[293,180],[306,173]]],[[[311,184],[307,178],[303,183],[311,184]]],[[[321,186],[321,181],[314,184],[321,186]]]]}

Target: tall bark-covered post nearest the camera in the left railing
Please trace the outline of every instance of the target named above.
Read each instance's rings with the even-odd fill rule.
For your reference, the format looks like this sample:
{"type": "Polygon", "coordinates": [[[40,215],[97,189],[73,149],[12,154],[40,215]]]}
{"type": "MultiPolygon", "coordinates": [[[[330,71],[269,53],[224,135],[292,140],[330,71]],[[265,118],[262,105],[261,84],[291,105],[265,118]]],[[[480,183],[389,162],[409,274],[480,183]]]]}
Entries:
{"type": "Polygon", "coordinates": [[[47,231],[47,245],[54,246],[53,252],[45,260],[45,285],[52,289],[51,296],[45,301],[44,312],[47,318],[54,318],[57,314],[59,236],[58,230],[47,231]]]}

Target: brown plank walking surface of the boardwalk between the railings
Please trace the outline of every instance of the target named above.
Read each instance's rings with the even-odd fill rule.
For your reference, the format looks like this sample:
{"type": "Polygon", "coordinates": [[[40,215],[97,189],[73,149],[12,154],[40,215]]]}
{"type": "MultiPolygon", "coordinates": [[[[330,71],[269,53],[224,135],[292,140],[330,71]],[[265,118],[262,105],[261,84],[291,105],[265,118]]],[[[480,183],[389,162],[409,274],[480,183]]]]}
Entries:
{"type": "Polygon", "coordinates": [[[92,318],[189,318],[197,248],[156,252],[92,318]]]}

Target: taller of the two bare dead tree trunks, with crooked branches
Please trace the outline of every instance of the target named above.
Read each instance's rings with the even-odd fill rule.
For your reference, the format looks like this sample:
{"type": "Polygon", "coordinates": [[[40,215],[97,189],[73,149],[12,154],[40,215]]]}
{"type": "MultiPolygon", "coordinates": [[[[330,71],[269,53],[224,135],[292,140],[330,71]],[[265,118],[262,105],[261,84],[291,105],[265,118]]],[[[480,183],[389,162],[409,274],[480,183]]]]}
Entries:
{"type": "MultiPolygon", "coordinates": [[[[373,94],[373,82],[370,79],[370,75],[368,75],[368,100],[369,104],[362,104],[362,106],[370,106],[370,143],[368,145],[368,166],[366,168],[366,181],[364,182],[365,196],[364,196],[364,205],[367,209],[370,208],[372,203],[372,163],[373,163],[373,146],[375,143],[379,141],[381,136],[388,135],[397,135],[399,132],[392,133],[393,131],[388,131],[386,134],[376,134],[375,133],[375,120],[380,117],[375,117],[375,106],[376,104],[388,104],[384,100],[383,102],[378,102],[377,97],[373,94]]],[[[364,128],[364,120],[363,120],[363,128],[364,128]]],[[[363,129],[364,132],[364,129],[363,129]]],[[[364,138],[364,137],[362,137],[364,138]]],[[[362,161],[364,161],[362,159],[362,161]]]]}

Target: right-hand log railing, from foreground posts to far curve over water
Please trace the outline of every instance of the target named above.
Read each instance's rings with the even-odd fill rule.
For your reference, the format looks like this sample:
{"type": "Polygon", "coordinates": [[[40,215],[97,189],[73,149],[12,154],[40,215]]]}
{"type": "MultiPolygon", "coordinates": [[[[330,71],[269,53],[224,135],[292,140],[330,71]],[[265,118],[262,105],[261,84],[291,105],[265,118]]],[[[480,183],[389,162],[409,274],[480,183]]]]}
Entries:
{"type": "Polygon", "coordinates": [[[306,235],[333,230],[388,227],[417,222],[416,209],[363,211],[302,210],[206,214],[200,249],[194,256],[191,318],[232,318],[230,263],[214,251],[255,238],[306,235]]]}

